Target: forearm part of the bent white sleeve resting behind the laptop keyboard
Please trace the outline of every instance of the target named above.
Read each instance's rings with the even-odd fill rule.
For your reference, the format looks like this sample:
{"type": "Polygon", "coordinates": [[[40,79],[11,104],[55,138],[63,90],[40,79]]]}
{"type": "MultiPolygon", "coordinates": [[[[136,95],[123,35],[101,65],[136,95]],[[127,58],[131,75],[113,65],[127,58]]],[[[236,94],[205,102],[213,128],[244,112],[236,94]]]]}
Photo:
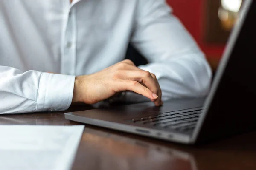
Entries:
{"type": "Polygon", "coordinates": [[[192,53],[140,66],[157,76],[163,100],[205,96],[209,92],[212,71],[202,53],[192,53]]]}

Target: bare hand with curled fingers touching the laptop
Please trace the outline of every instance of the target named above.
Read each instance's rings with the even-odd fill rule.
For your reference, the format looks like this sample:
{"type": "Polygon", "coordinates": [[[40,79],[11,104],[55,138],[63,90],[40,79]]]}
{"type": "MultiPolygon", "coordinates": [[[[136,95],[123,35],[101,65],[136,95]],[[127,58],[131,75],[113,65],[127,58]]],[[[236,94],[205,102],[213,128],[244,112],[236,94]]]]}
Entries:
{"type": "Polygon", "coordinates": [[[121,91],[134,91],[146,96],[156,106],[163,104],[156,76],[137,68],[130,60],[124,60],[94,74],[77,76],[72,102],[95,104],[121,91]]]}

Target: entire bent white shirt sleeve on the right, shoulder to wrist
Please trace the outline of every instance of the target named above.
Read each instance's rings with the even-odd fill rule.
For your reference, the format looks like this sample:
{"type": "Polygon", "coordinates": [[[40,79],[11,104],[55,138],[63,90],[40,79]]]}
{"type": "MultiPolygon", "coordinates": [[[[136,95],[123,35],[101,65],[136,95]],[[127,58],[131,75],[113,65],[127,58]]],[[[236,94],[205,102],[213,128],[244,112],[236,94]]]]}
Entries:
{"type": "Polygon", "coordinates": [[[138,0],[137,9],[131,43],[148,59],[139,68],[156,75],[163,100],[207,95],[211,68],[172,8],[165,0],[138,0]]]}

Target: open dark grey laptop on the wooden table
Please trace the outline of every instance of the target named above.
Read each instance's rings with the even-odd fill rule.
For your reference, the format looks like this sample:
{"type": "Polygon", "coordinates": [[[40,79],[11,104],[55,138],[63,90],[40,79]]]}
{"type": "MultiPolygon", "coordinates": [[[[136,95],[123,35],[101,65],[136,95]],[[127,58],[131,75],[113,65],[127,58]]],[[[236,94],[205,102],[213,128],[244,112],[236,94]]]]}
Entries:
{"type": "Polygon", "coordinates": [[[256,129],[256,1],[246,0],[209,95],[65,113],[76,122],[182,144],[201,144],[256,129]]]}

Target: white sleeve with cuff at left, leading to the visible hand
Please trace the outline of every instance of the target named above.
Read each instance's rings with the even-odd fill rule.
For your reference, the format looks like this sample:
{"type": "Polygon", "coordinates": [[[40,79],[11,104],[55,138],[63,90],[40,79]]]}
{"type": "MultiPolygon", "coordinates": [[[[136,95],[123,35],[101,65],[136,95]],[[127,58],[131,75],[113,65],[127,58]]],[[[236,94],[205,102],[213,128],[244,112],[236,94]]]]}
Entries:
{"type": "Polygon", "coordinates": [[[69,108],[75,76],[0,66],[0,114],[69,108]]]}

